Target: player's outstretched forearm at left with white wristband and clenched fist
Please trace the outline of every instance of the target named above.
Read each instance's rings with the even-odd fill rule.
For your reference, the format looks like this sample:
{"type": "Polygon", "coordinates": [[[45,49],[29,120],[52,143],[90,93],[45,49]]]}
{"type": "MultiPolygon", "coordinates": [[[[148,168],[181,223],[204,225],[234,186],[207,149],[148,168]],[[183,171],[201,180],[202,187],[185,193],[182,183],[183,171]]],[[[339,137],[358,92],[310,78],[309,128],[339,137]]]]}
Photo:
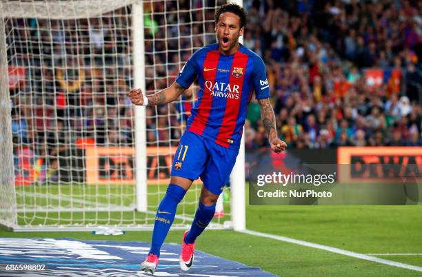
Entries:
{"type": "MultiPolygon", "coordinates": [[[[167,104],[176,100],[180,94],[185,91],[179,83],[174,82],[170,87],[160,90],[152,95],[146,96],[148,99],[148,106],[167,104]]],[[[143,105],[143,93],[141,89],[137,88],[128,93],[128,97],[134,105],[143,105]]]]}

